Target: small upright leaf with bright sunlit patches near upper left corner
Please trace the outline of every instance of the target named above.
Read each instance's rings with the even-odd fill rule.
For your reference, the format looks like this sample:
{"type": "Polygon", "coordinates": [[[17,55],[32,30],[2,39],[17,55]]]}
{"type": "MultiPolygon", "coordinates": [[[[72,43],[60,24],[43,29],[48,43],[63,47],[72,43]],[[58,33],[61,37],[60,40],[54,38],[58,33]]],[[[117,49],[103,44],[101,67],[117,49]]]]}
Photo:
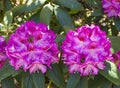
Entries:
{"type": "Polygon", "coordinates": [[[8,25],[8,24],[12,23],[12,20],[13,20],[13,13],[12,13],[12,11],[7,11],[5,13],[5,16],[4,16],[4,19],[3,19],[4,24],[8,25]]]}

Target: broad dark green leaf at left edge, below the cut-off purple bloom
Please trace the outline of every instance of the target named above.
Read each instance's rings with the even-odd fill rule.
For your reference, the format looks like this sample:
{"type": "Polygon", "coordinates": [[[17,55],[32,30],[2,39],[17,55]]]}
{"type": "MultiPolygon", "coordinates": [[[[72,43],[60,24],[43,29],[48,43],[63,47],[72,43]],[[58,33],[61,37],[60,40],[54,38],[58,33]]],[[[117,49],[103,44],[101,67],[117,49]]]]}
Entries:
{"type": "Polygon", "coordinates": [[[0,80],[3,80],[10,75],[16,74],[17,71],[14,70],[13,67],[11,67],[8,63],[6,63],[1,69],[0,69],[0,80]]]}

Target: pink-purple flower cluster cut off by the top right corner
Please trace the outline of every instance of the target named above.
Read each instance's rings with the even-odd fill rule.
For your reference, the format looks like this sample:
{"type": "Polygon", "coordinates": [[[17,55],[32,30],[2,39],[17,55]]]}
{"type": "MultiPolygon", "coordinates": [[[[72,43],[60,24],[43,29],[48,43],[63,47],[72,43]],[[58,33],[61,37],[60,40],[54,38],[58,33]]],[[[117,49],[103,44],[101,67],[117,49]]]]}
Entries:
{"type": "Polygon", "coordinates": [[[102,0],[102,7],[105,10],[104,12],[108,14],[108,17],[120,17],[120,0],[102,0]]]}

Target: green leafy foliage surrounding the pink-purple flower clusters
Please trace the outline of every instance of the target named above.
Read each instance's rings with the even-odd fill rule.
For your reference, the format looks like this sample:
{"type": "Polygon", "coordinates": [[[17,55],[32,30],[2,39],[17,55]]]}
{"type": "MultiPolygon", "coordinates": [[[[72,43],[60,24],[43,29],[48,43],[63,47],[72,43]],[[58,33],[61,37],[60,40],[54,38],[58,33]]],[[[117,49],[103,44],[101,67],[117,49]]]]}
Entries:
{"type": "MultiPolygon", "coordinates": [[[[60,45],[69,29],[85,24],[97,24],[112,43],[112,52],[120,50],[120,18],[108,18],[101,0],[1,0],[0,35],[9,38],[27,20],[45,23],[58,35],[60,45]]],[[[101,35],[102,36],[102,35],[101,35]]],[[[96,76],[69,74],[62,61],[52,65],[46,74],[15,71],[6,64],[0,69],[2,88],[120,88],[120,71],[110,61],[96,76]]]]}

